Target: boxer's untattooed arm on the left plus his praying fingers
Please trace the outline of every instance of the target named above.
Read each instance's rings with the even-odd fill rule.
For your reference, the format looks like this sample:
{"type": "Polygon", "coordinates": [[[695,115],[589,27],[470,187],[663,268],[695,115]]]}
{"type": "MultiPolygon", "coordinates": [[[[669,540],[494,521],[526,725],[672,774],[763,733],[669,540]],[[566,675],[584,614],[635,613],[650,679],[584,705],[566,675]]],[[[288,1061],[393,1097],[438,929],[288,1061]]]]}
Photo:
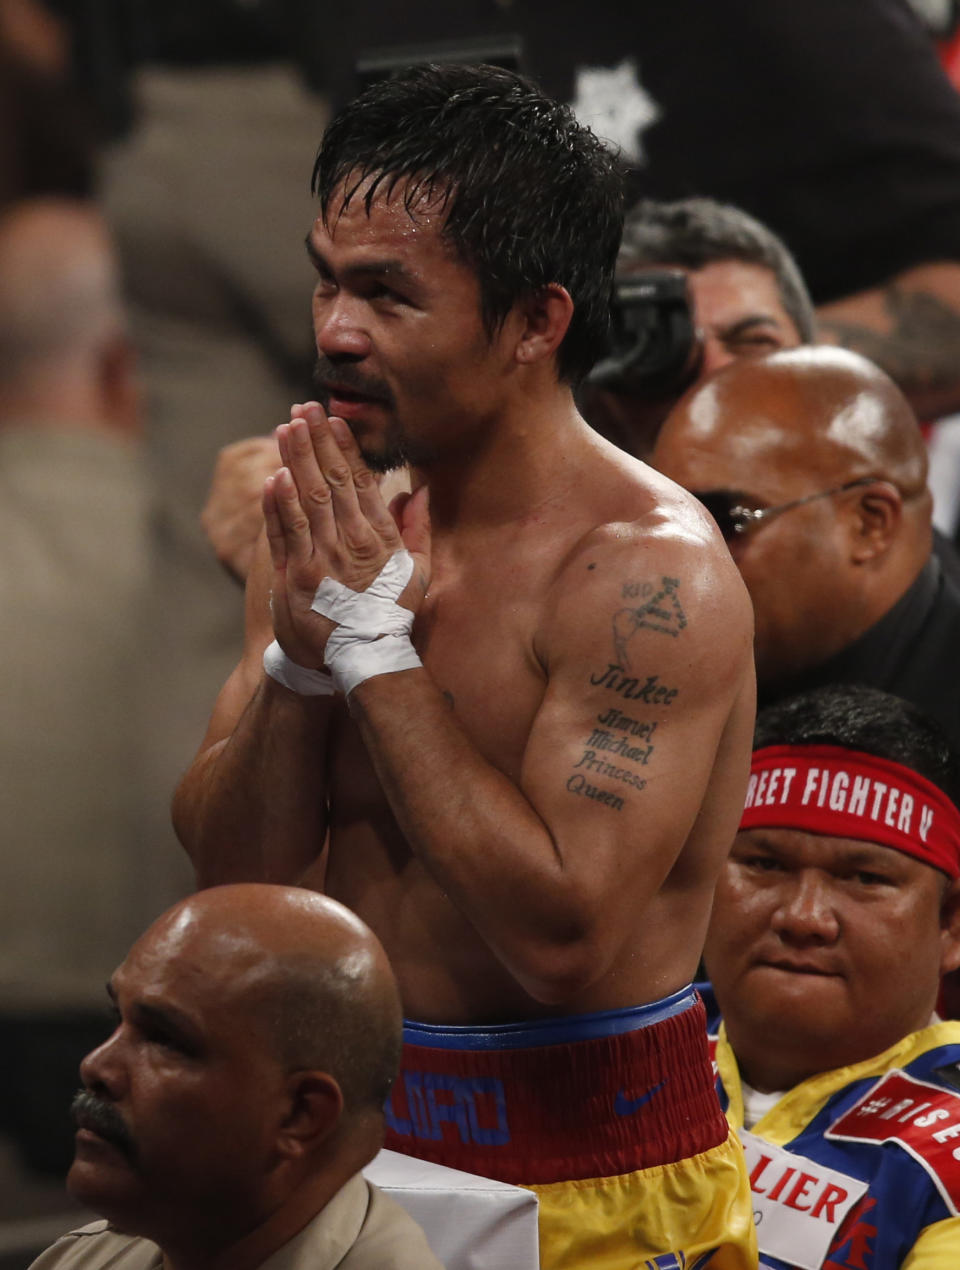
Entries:
{"type": "MultiPolygon", "coordinates": [[[[323,672],[325,641],[335,624],[311,608],[317,584],[345,569],[347,580],[363,591],[403,546],[356,446],[354,481],[320,406],[309,403],[291,413],[296,423],[282,424],[276,434],[284,467],[264,490],[267,533],[246,585],[244,655],[174,796],[174,827],[201,886],[296,883],[307,872],[316,884],[328,823],[330,728],[343,706],[333,696],[302,696],[283,687],[264,674],[263,653],[276,634],[295,663],[295,678],[303,669],[323,672]],[[323,433],[330,481],[344,486],[335,495],[339,519],[305,419],[323,433]],[[344,526],[349,541],[338,547],[344,526]]],[[[408,592],[422,596],[423,589],[418,575],[408,592]]]]}

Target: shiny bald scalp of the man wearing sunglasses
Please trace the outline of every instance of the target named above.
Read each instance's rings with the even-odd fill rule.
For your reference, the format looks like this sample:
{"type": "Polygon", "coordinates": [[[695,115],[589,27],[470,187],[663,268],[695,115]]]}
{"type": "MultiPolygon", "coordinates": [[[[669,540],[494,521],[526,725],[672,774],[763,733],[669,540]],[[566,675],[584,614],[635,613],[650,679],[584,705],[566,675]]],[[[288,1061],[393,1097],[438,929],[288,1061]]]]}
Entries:
{"type": "MultiPolygon", "coordinates": [[[[664,424],[654,465],[681,450],[750,469],[791,467],[811,489],[876,476],[907,498],[926,489],[927,451],[907,399],[881,370],[838,348],[795,348],[723,370],[664,424]]],[[[714,483],[711,481],[711,485],[714,483]]]]}

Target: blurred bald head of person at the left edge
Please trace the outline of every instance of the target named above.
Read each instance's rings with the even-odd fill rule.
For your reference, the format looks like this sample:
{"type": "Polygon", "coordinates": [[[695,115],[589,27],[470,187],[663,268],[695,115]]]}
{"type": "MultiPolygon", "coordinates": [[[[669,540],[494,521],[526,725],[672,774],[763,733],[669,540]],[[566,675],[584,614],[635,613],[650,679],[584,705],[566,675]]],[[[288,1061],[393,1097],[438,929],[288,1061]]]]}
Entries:
{"type": "Polygon", "coordinates": [[[0,216],[0,387],[72,371],[122,330],[113,251],[91,206],[42,199],[0,216]]]}

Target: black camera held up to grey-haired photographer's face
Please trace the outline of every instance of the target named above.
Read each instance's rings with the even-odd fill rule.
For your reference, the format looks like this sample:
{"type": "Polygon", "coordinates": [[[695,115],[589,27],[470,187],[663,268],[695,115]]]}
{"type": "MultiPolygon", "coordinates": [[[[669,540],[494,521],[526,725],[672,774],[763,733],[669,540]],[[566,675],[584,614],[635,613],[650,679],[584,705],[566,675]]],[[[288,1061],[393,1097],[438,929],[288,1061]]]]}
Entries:
{"type": "Polygon", "coordinates": [[[612,348],[587,382],[629,396],[679,396],[696,380],[703,348],[693,323],[687,276],[643,269],[616,279],[612,348]]]}

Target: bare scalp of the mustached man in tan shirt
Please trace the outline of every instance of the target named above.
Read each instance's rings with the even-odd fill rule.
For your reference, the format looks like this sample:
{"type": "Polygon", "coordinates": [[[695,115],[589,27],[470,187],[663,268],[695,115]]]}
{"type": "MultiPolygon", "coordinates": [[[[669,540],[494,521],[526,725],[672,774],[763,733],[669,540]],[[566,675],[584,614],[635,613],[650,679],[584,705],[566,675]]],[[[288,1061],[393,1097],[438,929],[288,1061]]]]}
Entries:
{"type": "Polygon", "coordinates": [[[292,886],[215,886],[164,913],[130,955],[217,982],[288,1072],[328,1072],[348,1115],[380,1114],[400,998],[378,940],[343,904],[292,886]]]}

